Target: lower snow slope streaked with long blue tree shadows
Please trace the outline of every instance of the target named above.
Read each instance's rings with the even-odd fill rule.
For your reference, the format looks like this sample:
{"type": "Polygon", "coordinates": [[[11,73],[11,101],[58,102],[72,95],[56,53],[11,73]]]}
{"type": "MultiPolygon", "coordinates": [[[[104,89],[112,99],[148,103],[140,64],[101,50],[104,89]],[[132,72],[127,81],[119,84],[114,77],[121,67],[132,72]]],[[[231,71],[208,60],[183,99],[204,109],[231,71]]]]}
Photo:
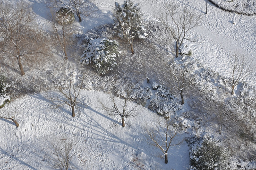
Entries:
{"type": "Polygon", "coordinates": [[[170,149],[168,164],[158,157],[162,155],[160,150],[147,144],[144,127],[153,122],[155,113],[140,107],[137,116],[126,119],[126,127],[121,127],[119,117],[111,117],[100,108],[98,100],[111,107],[108,94],[83,91],[81,96],[84,95],[89,96],[91,104],[80,108],[74,118],[66,105],[53,109],[45,93],[26,95],[12,102],[12,106],[19,106],[16,119],[20,126],[16,128],[12,122],[1,119],[0,169],[52,169],[51,142],[61,137],[77,142],[71,166],[78,170],[188,168],[185,142],[170,149]]]}

